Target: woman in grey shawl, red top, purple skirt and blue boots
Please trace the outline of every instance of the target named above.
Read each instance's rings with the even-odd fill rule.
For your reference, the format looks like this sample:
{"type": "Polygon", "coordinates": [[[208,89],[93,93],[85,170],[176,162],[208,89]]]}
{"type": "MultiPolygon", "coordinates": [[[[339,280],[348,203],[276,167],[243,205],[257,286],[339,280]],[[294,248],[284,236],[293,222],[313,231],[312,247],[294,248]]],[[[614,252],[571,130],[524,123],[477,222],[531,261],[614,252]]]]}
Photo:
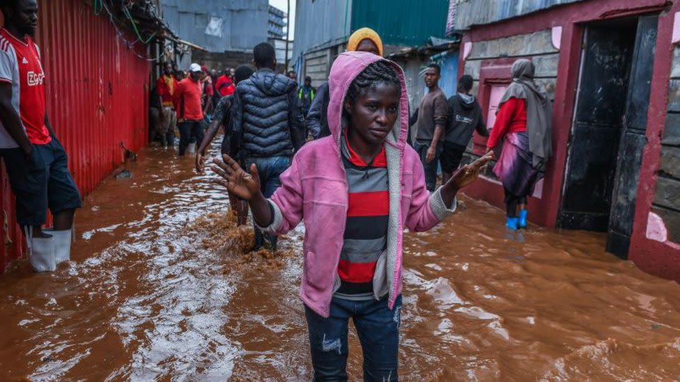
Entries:
{"type": "Polygon", "coordinates": [[[512,65],[512,83],[498,104],[487,151],[503,140],[493,172],[503,183],[511,230],[527,226],[527,197],[543,178],[553,155],[552,103],[534,83],[534,64],[527,59],[512,65]]]}

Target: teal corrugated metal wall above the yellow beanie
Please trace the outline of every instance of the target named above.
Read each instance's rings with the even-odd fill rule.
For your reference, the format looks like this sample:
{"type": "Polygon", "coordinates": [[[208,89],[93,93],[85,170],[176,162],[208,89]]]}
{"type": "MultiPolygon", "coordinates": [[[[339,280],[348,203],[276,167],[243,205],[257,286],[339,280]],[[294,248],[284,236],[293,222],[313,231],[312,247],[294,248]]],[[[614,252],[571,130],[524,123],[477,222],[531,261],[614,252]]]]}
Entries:
{"type": "Polygon", "coordinates": [[[385,45],[417,47],[431,36],[446,37],[449,0],[353,1],[352,31],[375,30],[385,45]]]}

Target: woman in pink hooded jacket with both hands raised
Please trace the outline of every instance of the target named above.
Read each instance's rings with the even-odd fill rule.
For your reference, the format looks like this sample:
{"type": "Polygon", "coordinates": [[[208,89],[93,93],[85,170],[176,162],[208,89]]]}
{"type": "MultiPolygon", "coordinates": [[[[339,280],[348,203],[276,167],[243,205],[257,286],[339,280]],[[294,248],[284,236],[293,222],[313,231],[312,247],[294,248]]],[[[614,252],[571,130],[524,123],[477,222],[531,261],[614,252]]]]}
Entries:
{"type": "Polygon", "coordinates": [[[261,229],[284,234],[304,221],[304,302],[315,381],[346,380],[348,321],[364,353],[364,381],[396,381],[403,230],[433,228],[456,209],[456,193],[490,160],[464,166],[433,193],[406,144],[408,97],[392,61],[347,52],[329,79],[331,136],[304,145],[270,200],[224,156],[213,170],[248,200],[261,229]]]}

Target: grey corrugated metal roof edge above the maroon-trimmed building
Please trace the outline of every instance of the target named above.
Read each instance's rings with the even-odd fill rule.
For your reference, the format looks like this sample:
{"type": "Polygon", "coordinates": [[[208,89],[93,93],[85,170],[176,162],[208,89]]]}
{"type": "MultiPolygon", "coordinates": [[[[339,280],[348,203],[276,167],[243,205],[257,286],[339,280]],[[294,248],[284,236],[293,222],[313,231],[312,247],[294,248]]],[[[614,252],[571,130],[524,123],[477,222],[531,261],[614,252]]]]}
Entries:
{"type": "Polygon", "coordinates": [[[456,0],[456,30],[511,19],[562,4],[587,0],[456,0]]]}

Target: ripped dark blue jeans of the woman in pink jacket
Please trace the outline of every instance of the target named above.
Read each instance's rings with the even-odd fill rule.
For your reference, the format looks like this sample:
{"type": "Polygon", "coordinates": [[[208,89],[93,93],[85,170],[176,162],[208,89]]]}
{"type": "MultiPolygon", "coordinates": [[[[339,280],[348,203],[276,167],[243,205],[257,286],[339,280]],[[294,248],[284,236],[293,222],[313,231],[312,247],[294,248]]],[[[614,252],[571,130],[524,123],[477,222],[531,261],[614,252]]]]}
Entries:
{"type": "Polygon", "coordinates": [[[314,381],[347,381],[347,333],[350,317],[364,353],[364,381],[398,381],[401,296],[394,310],[387,297],[380,301],[350,301],[334,297],[330,317],[304,307],[309,329],[314,381]]]}

